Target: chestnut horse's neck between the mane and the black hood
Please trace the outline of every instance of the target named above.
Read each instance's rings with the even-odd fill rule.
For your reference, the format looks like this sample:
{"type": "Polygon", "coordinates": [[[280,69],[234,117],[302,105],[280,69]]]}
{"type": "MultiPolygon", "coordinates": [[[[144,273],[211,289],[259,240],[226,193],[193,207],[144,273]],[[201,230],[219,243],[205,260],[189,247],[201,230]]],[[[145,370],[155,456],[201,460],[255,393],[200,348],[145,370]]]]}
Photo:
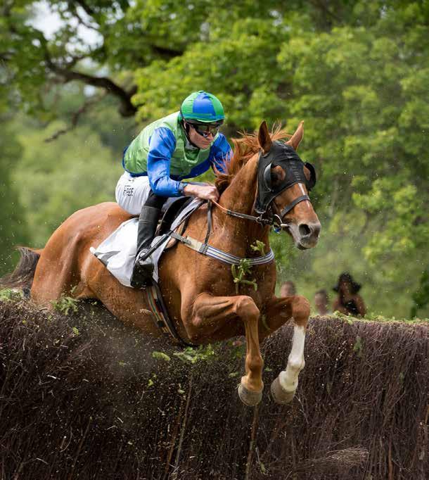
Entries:
{"type": "MultiPolygon", "coordinates": [[[[253,206],[255,203],[257,189],[257,159],[252,158],[241,168],[236,177],[233,178],[229,187],[226,188],[220,198],[220,204],[224,208],[247,215],[255,215],[253,206]]],[[[250,245],[256,244],[256,241],[262,241],[269,246],[268,232],[269,227],[251,220],[242,220],[237,217],[223,215],[224,228],[222,229],[227,236],[232,236],[234,245],[241,251],[241,255],[258,256],[261,253],[255,252],[250,245]],[[244,252],[244,253],[243,253],[244,252]]],[[[267,248],[265,253],[267,253],[267,248]]]]}

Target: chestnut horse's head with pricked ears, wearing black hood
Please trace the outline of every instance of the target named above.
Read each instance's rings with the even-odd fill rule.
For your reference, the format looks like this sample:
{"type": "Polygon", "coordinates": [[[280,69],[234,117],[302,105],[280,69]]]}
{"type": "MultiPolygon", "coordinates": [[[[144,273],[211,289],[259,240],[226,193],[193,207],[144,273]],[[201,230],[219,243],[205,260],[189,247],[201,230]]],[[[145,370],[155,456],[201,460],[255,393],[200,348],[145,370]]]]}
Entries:
{"type": "Polygon", "coordinates": [[[271,209],[278,228],[286,229],[298,248],[312,248],[319,240],[321,225],[308,193],[316,184],[316,171],[296,151],[304,134],[303,123],[286,142],[272,141],[267,123],[258,132],[261,153],[255,210],[271,209]]]}

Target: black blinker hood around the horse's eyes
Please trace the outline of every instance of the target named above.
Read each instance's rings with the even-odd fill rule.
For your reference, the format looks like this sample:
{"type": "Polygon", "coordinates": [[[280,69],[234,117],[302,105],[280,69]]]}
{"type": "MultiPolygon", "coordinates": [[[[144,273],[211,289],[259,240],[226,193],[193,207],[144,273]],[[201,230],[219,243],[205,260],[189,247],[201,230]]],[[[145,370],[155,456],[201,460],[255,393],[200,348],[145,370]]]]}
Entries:
{"type": "Polygon", "coordinates": [[[304,163],[293,146],[283,144],[281,141],[274,141],[269,152],[265,155],[260,153],[257,172],[257,199],[255,211],[259,214],[265,213],[269,203],[283,190],[292,187],[296,183],[303,183],[310,191],[316,184],[316,170],[311,163],[304,163]],[[286,173],[283,181],[275,187],[271,184],[271,168],[280,165],[286,173]],[[304,173],[304,166],[310,171],[310,179],[307,180],[304,173]]]}

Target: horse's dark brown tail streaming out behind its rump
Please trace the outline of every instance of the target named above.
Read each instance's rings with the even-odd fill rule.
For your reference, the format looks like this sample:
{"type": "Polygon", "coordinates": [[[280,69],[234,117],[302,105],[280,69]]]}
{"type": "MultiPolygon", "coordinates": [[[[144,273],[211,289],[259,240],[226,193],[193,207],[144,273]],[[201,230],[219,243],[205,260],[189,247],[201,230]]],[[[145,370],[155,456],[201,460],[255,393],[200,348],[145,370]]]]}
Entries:
{"type": "Polygon", "coordinates": [[[30,292],[36,265],[43,248],[36,250],[18,246],[17,250],[21,255],[20,261],[12,273],[0,278],[0,289],[23,289],[25,293],[28,293],[30,292]]]}

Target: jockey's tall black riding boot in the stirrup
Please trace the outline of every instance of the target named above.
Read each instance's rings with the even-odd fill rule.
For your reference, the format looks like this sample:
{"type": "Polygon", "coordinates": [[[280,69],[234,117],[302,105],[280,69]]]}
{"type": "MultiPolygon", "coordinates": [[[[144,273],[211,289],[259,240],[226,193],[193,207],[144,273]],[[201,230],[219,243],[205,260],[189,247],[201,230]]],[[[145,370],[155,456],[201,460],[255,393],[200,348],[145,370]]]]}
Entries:
{"type": "Polygon", "coordinates": [[[137,232],[136,260],[134,260],[134,270],[131,276],[131,286],[136,288],[151,284],[153,260],[151,255],[144,260],[141,260],[141,258],[146,255],[146,252],[151,248],[160,213],[161,210],[159,208],[144,205],[141,208],[139,230],[137,232]]]}

